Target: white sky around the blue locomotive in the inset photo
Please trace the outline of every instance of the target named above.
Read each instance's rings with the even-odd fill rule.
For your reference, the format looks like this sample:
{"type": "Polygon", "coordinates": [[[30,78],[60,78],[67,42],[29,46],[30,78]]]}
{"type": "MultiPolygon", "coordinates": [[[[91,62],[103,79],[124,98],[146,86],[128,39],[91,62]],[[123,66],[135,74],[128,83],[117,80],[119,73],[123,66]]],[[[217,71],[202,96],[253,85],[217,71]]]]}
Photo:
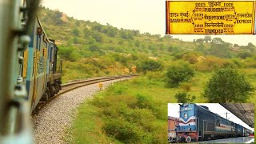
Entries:
{"type": "MultiPolygon", "coordinates": [[[[223,106],[218,103],[196,103],[197,105],[207,106],[209,110],[215,114],[219,114],[222,118],[226,118],[226,112],[230,113],[229,110],[226,110],[223,106]]],[[[178,103],[168,103],[168,116],[179,118],[179,105],[178,103]]],[[[254,130],[250,126],[246,125],[245,122],[242,122],[239,118],[237,118],[234,114],[227,114],[227,118],[239,125],[246,127],[247,129],[254,130]]]]}

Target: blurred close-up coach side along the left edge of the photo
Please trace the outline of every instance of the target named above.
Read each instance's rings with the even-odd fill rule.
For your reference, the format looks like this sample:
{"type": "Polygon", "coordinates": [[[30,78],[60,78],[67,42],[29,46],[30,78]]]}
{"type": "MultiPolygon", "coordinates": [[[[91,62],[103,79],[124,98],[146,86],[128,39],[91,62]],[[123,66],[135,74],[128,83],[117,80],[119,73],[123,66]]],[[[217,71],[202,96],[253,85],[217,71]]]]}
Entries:
{"type": "Polygon", "coordinates": [[[0,0],[0,143],[33,143],[30,114],[37,102],[34,100],[30,104],[28,100],[36,99],[46,91],[42,88],[42,94],[36,94],[34,90],[31,92],[35,92],[32,94],[34,98],[31,98],[32,95],[27,93],[30,88],[26,88],[26,85],[34,86],[34,89],[40,87],[38,82],[27,82],[28,76],[30,80],[38,80],[46,74],[37,71],[39,62],[42,62],[37,59],[41,51],[27,50],[30,40],[38,42],[31,34],[38,5],[39,0],[0,0]],[[33,51],[37,53],[30,53],[33,51]],[[27,59],[31,54],[38,55],[27,59]],[[30,62],[37,65],[30,65],[30,62]],[[29,71],[34,75],[29,75],[29,71]]]}

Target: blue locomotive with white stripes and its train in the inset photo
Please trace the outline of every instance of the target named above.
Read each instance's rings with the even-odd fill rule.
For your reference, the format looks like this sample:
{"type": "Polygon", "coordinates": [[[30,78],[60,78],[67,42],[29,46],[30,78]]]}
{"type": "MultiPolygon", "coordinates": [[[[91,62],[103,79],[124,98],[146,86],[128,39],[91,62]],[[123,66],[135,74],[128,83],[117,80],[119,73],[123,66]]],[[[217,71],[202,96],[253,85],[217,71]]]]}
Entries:
{"type": "Polygon", "coordinates": [[[168,118],[169,142],[198,142],[249,136],[253,132],[211,112],[207,106],[180,104],[180,118],[168,118]]]}

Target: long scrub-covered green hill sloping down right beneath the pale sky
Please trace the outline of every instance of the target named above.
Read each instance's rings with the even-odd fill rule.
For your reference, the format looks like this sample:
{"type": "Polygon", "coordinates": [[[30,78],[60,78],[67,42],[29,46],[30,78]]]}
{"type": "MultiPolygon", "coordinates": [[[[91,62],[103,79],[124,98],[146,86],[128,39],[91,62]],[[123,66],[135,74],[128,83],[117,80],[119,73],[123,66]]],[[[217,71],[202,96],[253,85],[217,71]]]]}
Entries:
{"type": "Polygon", "coordinates": [[[58,44],[58,57],[64,60],[64,81],[128,74],[133,66],[139,66],[142,61],[149,59],[162,62],[165,67],[184,61],[198,70],[198,67],[202,67],[202,61],[232,64],[236,61],[239,64],[235,66],[249,66],[247,61],[253,61],[256,50],[252,43],[238,46],[223,42],[221,38],[211,39],[210,36],[194,39],[194,42],[183,42],[170,35],[141,34],[139,30],[77,20],[46,7],[40,7],[38,18],[48,37],[55,39],[58,44]]]}

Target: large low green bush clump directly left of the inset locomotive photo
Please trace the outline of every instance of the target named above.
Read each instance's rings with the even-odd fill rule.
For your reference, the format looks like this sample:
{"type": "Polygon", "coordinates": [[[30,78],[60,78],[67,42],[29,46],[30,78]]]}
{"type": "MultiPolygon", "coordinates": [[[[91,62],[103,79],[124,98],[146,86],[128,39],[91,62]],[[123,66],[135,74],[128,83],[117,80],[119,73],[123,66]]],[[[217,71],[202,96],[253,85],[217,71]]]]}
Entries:
{"type": "Polygon", "coordinates": [[[136,94],[118,97],[120,86],[111,86],[107,98],[98,95],[90,104],[98,107],[102,130],[124,143],[163,143],[166,134],[166,105],[136,94]]]}

